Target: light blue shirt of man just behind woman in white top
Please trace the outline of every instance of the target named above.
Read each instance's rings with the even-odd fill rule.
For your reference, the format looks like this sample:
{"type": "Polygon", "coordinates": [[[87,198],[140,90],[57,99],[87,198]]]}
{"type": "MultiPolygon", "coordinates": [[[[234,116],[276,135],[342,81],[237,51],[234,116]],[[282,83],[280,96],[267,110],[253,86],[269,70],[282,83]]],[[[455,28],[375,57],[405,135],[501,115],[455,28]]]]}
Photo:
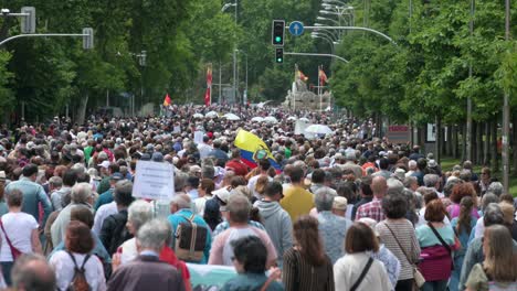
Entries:
{"type": "Polygon", "coordinates": [[[345,238],[348,228],[352,225],[350,219],[337,216],[331,212],[318,213],[319,234],[321,235],[325,252],[333,265],[345,254],[345,238]]]}

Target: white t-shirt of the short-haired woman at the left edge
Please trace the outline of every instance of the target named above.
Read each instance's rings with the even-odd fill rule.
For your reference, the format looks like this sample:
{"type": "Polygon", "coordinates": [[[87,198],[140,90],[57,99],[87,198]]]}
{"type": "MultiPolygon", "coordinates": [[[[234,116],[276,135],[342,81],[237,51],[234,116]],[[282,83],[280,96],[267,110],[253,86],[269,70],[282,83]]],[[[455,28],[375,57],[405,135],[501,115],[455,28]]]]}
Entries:
{"type": "MultiPolygon", "coordinates": [[[[1,219],[12,246],[23,254],[31,254],[32,230],[36,229],[39,226],[34,217],[30,214],[20,212],[4,214],[1,219]]],[[[12,261],[11,248],[9,248],[9,244],[7,244],[3,230],[0,231],[0,261],[12,261]]]]}

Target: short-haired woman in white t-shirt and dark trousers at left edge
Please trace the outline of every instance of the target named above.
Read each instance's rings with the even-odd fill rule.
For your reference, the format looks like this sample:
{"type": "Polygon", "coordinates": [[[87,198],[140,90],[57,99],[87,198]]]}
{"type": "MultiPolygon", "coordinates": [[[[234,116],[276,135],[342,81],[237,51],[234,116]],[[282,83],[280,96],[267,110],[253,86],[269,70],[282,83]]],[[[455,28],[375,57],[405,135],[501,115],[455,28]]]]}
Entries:
{"type": "Polygon", "coordinates": [[[21,211],[23,193],[12,190],[7,194],[9,213],[0,218],[0,265],[8,285],[11,284],[11,269],[15,256],[20,254],[43,254],[38,222],[32,215],[21,211]]]}

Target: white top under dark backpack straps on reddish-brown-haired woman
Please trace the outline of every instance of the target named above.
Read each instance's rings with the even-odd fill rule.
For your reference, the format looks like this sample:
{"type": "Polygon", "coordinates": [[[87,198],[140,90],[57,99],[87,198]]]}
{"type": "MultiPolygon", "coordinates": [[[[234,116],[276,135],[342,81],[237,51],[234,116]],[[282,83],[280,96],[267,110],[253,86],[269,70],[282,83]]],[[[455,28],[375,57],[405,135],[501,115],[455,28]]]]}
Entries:
{"type": "MultiPolygon", "coordinates": [[[[83,265],[86,255],[72,252],[77,267],[81,268],[83,265]]],[[[60,290],[66,290],[72,279],[74,278],[74,262],[70,255],[60,250],[52,256],[49,263],[55,270],[55,276],[57,280],[57,288],[60,290]]],[[[84,266],[85,278],[93,291],[104,291],[106,290],[106,279],[104,277],[103,263],[97,258],[97,256],[91,256],[84,266]]]]}

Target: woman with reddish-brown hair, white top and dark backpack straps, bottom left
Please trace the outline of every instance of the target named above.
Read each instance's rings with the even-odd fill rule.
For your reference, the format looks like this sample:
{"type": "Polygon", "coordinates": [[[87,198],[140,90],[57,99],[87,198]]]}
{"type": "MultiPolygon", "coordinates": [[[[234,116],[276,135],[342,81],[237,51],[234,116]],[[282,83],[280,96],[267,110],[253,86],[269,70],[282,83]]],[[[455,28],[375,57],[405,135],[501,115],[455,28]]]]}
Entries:
{"type": "Polygon", "coordinates": [[[78,220],[71,220],[66,227],[65,247],[52,256],[49,263],[54,268],[59,290],[67,290],[75,276],[75,268],[84,267],[84,277],[89,290],[106,290],[103,263],[91,255],[94,238],[89,227],[78,220]]]}

